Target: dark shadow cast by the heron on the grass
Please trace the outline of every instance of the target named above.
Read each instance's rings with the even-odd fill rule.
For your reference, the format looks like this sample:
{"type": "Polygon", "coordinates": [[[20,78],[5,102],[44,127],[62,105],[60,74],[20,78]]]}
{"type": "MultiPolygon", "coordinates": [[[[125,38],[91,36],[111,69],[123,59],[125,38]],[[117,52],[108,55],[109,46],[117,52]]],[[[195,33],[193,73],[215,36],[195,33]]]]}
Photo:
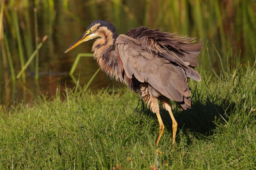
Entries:
{"type": "MultiPolygon", "coordinates": [[[[201,91],[195,89],[192,98],[193,106],[188,110],[180,111],[178,107],[173,107],[172,110],[175,120],[178,123],[177,139],[179,143],[179,132],[182,131],[188,137],[187,145],[191,144],[189,135],[193,134],[198,139],[209,139],[214,133],[216,126],[221,123],[228,122],[228,117],[235,107],[235,103],[230,103],[227,97],[219,99],[216,95],[207,92],[205,97],[201,96],[201,91]],[[189,132],[189,133],[188,133],[189,132]]],[[[156,114],[152,113],[148,107],[141,101],[141,108],[137,108],[141,114],[146,114],[148,117],[157,120],[156,114]]],[[[165,126],[165,130],[172,133],[172,119],[168,111],[160,106],[160,114],[165,126]]],[[[156,127],[158,128],[158,126],[156,127]]]]}

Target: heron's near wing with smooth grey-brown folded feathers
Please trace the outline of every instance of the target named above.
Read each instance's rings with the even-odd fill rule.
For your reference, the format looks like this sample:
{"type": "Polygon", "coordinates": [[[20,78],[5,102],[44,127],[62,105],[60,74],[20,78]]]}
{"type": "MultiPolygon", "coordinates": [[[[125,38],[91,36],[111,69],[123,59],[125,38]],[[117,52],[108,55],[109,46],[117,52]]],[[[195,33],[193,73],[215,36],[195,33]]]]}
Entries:
{"type": "Polygon", "coordinates": [[[149,83],[157,92],[173,101],[183,101],[184,97],[190,96],[184,68],[165,57],[159,57],[129,36],[118,36],[116,48],[128,78],[134,75],[138,81],[149,83]]]}

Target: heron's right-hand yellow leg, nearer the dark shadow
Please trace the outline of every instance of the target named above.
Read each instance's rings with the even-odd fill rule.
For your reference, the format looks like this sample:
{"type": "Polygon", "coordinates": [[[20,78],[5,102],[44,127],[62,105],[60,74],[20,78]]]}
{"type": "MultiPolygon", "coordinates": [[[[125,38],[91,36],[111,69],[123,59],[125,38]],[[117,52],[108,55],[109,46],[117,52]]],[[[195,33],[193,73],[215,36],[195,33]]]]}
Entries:
{"type": "Polygon", "coordinates": [[[175,118],[173,117],[171,103],[170,103],[169,99],[161,99],[161,102],[163,104],[163,108],[169,112],[170,117],[172,118],[172,146],[173,146],[175,144],[175,138],[176,138],[178,124],[177,124],[175,118]]]}

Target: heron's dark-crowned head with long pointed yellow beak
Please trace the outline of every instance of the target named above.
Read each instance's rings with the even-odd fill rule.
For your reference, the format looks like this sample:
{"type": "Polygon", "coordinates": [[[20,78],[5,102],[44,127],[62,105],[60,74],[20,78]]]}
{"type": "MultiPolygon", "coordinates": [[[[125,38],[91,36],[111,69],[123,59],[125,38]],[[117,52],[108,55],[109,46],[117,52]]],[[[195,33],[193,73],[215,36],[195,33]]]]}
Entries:
{"type": "Polygon", "coordinates": [[[113,24],[106,20],[95,20],[92,22],[92,24],[89,25],[84,34],[79,39],[77,39],[76,42],[70,45],[70,47],[68,47],[65,53],[69,50],[72,50],[77,45],[97,37],[104,39],[104,43],[102,45],[114,43],[117,36],[118,34],[113,24]]]}

